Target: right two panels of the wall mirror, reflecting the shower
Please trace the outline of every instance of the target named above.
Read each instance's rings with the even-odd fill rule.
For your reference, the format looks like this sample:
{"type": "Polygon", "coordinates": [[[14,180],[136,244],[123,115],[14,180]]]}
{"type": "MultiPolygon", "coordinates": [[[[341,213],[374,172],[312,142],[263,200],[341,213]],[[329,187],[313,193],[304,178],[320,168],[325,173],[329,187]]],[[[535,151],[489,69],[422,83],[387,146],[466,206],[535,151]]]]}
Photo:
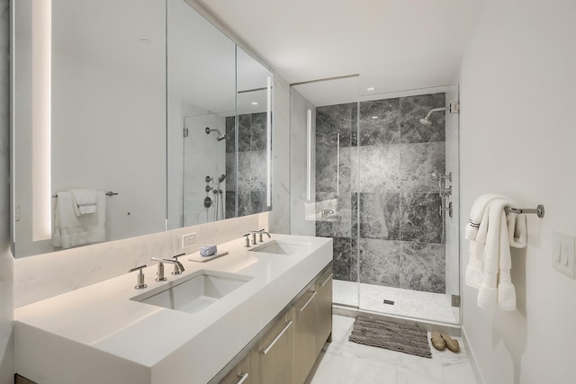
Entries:
{"type": "Polygon", "coordinates": [[[272,76],[168,0],[168,228],[271,209],[272,76]]]}

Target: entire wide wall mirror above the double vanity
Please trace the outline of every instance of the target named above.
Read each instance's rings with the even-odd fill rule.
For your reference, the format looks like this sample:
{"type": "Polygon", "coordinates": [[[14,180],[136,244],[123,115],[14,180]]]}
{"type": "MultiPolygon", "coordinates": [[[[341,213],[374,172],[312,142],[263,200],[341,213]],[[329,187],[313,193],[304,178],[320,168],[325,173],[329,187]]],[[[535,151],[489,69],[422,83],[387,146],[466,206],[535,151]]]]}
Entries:
{"type": "Polygon", "coordinates": [[[15,256],[270,209],[271,76],[190,4],[13,0],[12,25],[15,256]]]}

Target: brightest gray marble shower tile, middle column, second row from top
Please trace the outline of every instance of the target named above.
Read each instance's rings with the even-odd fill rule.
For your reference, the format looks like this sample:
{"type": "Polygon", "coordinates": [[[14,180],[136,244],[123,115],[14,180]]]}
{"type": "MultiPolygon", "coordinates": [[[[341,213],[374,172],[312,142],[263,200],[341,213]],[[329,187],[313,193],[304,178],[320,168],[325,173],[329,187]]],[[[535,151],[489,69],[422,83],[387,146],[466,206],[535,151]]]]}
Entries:
{"type": "Polygon", "coordinates": [[[357,147],[352,148],[351,152],[353,192],[400,192],[399,145],[357,147]]]}

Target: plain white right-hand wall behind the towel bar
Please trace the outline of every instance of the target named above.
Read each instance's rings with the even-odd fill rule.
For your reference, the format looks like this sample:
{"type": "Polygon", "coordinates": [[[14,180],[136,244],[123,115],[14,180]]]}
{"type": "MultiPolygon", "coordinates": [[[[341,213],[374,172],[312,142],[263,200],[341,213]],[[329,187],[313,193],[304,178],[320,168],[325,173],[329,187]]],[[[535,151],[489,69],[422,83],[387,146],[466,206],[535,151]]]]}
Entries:
{"type": "MultiPolygon", "coordinates": [[[[515,311],[476,306],[464,286],[464,335],[485,384],[576,380],[576,281],[552,265],[552,235],[576,236],[576,3],[490,0],[461,68],[462,214],[500,192],[528,216],[528,246],[513,250],[515,311]]],[[[461,232],[464,236],[464,230],[461,232]]],[[[468,260],[463,239],[463,262],[468,260]]]]}

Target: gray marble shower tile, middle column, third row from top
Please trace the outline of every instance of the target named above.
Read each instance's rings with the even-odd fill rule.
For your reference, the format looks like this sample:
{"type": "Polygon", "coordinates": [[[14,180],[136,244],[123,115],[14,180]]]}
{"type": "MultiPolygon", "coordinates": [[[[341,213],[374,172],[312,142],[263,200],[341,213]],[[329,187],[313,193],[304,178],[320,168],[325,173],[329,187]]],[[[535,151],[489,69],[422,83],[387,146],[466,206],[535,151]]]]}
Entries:
{"type": "MultiPolygon", "coordinates": [[[[359,207],[359,237],[400,240],[400,193],[359,193],[359,207]]],[[[352,223],[356,228],[355,214],[352,223]]]]}

